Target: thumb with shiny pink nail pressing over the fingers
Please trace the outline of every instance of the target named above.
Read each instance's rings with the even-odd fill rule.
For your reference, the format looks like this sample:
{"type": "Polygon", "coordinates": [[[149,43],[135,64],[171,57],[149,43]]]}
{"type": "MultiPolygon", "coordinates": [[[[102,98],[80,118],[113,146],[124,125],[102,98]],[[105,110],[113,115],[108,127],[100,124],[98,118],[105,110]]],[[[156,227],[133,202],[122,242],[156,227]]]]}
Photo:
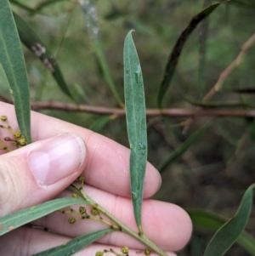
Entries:
{"type": "Polygon", "coordinates": [[[0,156],[0,217],[56,196],[82,173],[86,156],[77,134],[60,134],[0,156]]]}

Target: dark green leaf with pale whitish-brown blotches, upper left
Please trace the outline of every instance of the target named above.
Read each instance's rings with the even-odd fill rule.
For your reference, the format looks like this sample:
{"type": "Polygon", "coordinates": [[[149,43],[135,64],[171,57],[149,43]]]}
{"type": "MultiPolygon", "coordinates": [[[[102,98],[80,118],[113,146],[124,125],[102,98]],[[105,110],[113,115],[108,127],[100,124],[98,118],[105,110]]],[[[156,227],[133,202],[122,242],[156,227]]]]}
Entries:
{"type": "Polygon", "coordinates": [[[14,13],[14,20],[16,22],[21,42],[24,43],[26,47],[29,48],[34,54],[36,54],[37,57],[42,61],[43,65],[48,68],[48,71],[52,73],[61,91],[77,102],[65,82],[65,78],[62,75],[57,61],[45,43],[42,42],[40,37],[37,36],[37,33],[32,30],[31,26],[29,26],[18,14],[14,13]]]}

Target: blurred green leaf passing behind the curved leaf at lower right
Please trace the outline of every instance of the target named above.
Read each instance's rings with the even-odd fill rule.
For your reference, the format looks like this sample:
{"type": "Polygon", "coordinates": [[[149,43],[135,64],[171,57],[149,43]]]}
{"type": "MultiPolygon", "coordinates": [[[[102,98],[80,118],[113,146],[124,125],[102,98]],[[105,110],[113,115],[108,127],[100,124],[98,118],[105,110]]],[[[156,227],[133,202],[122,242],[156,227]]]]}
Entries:
{"type": "MultiPolygon", "coordinates": [[[[193,225],[216,231],[227,222],[227,219],[216,213],[207,212],[201,209],[188,209],[193,225]]],[[[242,231],[236,242],[248,253],[255,256],[255,239],[246,231],[242,231]]]]}

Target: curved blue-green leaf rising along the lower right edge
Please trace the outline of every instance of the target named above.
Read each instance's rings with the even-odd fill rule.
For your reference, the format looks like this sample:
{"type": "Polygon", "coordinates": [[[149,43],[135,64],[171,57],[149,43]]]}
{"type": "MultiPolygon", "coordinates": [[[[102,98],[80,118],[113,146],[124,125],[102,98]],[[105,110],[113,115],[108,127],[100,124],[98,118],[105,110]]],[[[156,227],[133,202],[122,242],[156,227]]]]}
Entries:
{"type": "Polygon", "coordinates": [[[226,253],[245,229],[252,211],[252,196],[255,184],[250,185],[241,199],[235,216],[227,221],[208,243],[204,256],[222,256],[226,253]]]}

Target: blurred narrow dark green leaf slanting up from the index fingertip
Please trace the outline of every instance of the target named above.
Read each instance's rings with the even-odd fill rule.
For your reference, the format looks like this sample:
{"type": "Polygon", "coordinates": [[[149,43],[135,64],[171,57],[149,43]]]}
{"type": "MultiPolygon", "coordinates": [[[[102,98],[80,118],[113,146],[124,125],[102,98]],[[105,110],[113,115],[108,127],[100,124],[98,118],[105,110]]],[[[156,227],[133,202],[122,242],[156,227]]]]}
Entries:
{"type": "Polygon", "coordinates": [[[203,134],[207,131],[207,128],[209,128],[212,125],[212,121],[207,122],[203,127],[199,128],[197,131],[195,131],[194,134],[190,135],[188,139],[184,141],[182,145],[176,149],[170,156],[167,156],[167,158],[161,162],[161,164],[157,167],[159,172],[162,172],[165,168],[169,167],[179,156],[182,156],[185,151],[187,151],[191,145],[193,145],[198,139],[201,138],[203,134]]]}

